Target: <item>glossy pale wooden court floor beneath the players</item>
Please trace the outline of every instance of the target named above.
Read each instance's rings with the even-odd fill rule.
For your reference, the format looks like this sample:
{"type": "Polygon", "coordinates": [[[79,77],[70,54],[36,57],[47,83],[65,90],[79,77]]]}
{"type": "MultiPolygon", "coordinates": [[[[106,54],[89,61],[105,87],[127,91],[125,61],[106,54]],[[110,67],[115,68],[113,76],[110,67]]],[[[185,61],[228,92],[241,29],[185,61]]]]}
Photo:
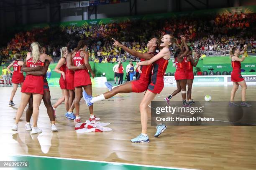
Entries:
{"type": "MultiPolygon", "coordinates": [[[[72,120],[64,117],[64,104],[56,110],[58,132],[51,132],[46,108],[42,102],[38,127],[43,133],[31,135],[24,129],[25,112],[19,123],[18,133],[11,130],[20,102],[20,87],[14,98],[16,105],[8,106],[12,87],[0,87],[0,156],[6,154],[41,155],[61,158],[110,161],[204,170],[255,170],[255,126],[169,126],[159,138],[148,122],[150,143],[131,143],[141,132],[139,102],[143,94],[118,94],[94,104],[94,112],[101,122],[111,122],[112,132],[77,134],[72,120]]],[[[58,87],[51,87],[51,102],[61,96],[58,87]]],[[[163,100],[175,87],[165,87],[155,100],[163,100]]],[[[203,100],[211,95],[212,100],[227,101],[231,87],[193,87],[192,98],[203,100]]],[[[99,95],[107,88],[93,88],[99,95]]],[[[236,100],[240,100],[241,90],[236,100]]],[[[180,100],[178,94],[173,100],[180,100]]],[[[255,101],[256,86],[248,86],[248,101],[255,101]]],[[[213,108],[215,109],[215,108],[213,108]]],[[[82,121],[89,118],[89,110],[80,104],[82,121]]],[[[254,112],[256,114],[256,111],[254,112]]]]}

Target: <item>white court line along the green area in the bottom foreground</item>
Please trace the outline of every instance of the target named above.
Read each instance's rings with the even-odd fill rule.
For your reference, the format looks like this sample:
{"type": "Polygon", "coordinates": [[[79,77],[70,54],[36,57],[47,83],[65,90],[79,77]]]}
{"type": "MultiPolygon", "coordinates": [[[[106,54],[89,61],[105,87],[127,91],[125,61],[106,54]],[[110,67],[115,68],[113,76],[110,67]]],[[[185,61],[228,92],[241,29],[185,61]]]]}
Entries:
{"type": "Polygon", "coordinates": [[[10,156],[27,156],[27,157],[37,157],[37,158],[52,158],[52,159],[62,159],[62,160],[77,160],[77,161],[86,161],[86,162],[93,162],[93,163],[108,163],[112,165],[131,165],[131,166],[140,166],[140,167],[150,167],[150,168],[165,168],[165,169],[176,169],[176,170],[196,170],[196,169],[188,169],[188,168],[175,168],[175,167],[164,167],[164,166],[154,166],[154,165],[140,165],[140,164],[133,164],[133,163],[116,163],[116,162],[108,162],[108,161],[101,161],[101,160],[83,160],[83,159],[74,159],[74,158],[61,158],[61,157],[51,157],[51,156],[38,156],[38,155],[10,155],[10,156]]]}

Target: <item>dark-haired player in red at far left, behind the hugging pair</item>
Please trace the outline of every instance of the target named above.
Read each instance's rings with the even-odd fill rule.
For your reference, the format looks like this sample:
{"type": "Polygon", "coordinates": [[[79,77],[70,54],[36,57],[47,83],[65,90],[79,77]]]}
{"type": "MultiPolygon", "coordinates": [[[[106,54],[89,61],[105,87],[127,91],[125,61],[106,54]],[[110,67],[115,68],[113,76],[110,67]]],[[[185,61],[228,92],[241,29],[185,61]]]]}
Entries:
{"type": "Polygon", "coordinates": [[[13,82],[13,91],[10,96],[10,102],[9,105],[15,105],[13,102],[13,97],[18,89],[18,85],[20,84],[20,87],[22,87],[24,82],[24,75],[23,72],[20,71],[21,66],[24,64],[22,59],[22,55],[15,54],[13,57],[14,61],[10,63],[10,65],[7,67],[7,70],[13,74],[12,82],[13,82]],[[10,70],[10,67],[13,67],[13,71],[10,70]]]}

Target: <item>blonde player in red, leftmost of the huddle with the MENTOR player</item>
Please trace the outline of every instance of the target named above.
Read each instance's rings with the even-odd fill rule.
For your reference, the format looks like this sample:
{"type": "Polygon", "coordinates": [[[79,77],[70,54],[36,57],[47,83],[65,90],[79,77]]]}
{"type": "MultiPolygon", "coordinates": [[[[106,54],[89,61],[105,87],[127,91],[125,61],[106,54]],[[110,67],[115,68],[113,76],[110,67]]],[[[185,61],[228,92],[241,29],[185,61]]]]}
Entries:
{"type": "Polygon", "coordinates": [[[56,117],[55,110],[62,103],[65,103],[66,110],[69,110],[69,91],[67,90],[67,83],[65,79],[66,75],[66,58],[67,58],[67,47],[61,48],[61,59],[59,59],[58,64],[56,65],[54,71],[61,74],[59,78],[59,86],[61,88],[62,96],[59,100],[53,105],[54,108],[54,117],[56,117]]]}

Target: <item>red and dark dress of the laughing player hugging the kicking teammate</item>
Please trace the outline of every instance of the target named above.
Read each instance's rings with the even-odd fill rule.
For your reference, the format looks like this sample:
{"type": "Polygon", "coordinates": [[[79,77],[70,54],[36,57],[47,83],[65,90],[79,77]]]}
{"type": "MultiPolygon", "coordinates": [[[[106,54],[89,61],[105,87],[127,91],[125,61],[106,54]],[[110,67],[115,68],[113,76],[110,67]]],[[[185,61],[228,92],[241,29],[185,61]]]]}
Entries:
{"type": "Polygon", "coordinates": [[[148,90],[153,93],[160,93],[164,88],[164,73],[168,65],[168,60],[160,58],[153,63],[153,74],[148,90]]]}

